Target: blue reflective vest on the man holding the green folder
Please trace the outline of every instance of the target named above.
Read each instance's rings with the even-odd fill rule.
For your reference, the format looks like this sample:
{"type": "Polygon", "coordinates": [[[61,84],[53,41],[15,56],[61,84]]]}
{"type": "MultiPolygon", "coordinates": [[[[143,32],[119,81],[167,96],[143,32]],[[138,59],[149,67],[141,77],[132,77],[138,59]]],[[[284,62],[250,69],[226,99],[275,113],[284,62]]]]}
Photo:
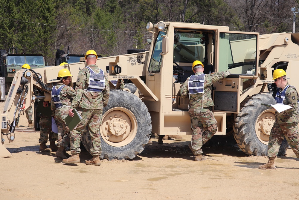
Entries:
{"type": "Polygon", "coordinates": [[[104,71],[100,69],[99,73],[95,73],[90,67],[87,66],[86,68],[89,69],[90,72],[89,85],[86,90],[91,92],[102,92],[105,88],[104,71]]]}

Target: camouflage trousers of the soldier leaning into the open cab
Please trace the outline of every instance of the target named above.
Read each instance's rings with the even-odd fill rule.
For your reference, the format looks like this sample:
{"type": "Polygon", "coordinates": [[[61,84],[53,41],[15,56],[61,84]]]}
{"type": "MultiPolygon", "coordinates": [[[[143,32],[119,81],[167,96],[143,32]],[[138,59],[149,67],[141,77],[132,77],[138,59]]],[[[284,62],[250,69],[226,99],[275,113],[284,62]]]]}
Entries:
{"type": "Polygon", "coordinates": [[[191,145],[194,155],[202,154],[202,145],[209,141],[217,132],[217,121],[212,109],[189,109],[191,119],[191,145]]]}

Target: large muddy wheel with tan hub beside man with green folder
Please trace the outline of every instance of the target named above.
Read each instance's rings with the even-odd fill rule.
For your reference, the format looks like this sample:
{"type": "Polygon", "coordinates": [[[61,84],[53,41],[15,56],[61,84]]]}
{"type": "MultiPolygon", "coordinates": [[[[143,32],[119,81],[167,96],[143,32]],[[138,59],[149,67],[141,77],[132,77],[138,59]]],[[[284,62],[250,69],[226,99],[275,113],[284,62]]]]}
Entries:
{"type": "Polygon", "coordinates": [[[101,159],[132,159],[144,150],[152,131],[145,104],[128,91],[112,90],[100,127],[101,159]]]}

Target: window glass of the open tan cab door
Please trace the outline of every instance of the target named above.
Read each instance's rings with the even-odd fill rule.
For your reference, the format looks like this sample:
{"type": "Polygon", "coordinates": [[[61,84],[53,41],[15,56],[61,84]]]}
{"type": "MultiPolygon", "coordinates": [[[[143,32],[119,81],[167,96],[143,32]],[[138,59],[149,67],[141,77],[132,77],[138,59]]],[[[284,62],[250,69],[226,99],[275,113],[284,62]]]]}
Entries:
{"type": "Polygon", "coordinates": [[[255,75],[257,36],[254,34],[220,33],[219,72],[255,75]]]}

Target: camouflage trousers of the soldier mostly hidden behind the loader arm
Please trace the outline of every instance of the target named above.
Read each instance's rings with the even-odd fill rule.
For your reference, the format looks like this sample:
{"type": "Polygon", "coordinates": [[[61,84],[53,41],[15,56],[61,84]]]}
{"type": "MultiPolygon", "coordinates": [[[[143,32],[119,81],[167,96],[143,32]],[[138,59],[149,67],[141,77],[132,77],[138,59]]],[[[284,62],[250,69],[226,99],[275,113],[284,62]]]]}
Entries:
{"type": "Polygon", "coordinates": [[[39,125],[40,125],[40,138],[39,143],[46,144],[48,142],[55,142],[57,140],[57,134],[51,131],[51,118],[45,115],[40,115],[39,125]]]}

